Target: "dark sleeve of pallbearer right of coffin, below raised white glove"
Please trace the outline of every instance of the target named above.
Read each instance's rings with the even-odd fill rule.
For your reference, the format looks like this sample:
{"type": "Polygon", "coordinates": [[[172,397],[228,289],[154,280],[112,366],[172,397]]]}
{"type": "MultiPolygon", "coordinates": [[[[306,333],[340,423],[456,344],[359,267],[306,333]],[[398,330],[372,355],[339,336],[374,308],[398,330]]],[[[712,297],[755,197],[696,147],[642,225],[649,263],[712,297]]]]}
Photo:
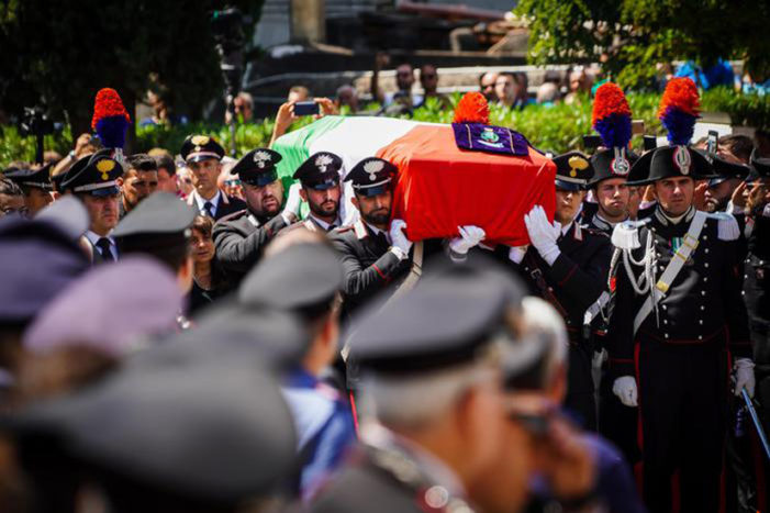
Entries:
{"type": "Polygon", "coordinates": [[[545,268],[548,282],[559,287],[583,311],[588,310],[606,289],[612,258],[612,244],[607,237],[595,236],[593,241],[595,249],[582,267],[561,253],[553,266],[545,268]]]}

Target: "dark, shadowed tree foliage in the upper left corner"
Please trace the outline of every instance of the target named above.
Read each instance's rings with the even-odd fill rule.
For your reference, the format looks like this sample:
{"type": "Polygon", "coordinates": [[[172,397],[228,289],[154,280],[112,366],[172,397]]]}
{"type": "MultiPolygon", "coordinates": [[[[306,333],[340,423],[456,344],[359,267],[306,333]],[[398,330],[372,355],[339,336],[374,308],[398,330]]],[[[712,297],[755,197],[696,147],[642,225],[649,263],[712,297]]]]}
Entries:
{"type": "MultiPolygon", "coordinates": [[[[179,113],[200,116],[222,87],[211,32],[224,1],[7,0],[0,2],[0,109],[43,103],[87,129],[96,92],[115,88],[132,110],[153,87],[179,113]]],[[[261,0],[238,4],[256,20],[261,0]]]]}

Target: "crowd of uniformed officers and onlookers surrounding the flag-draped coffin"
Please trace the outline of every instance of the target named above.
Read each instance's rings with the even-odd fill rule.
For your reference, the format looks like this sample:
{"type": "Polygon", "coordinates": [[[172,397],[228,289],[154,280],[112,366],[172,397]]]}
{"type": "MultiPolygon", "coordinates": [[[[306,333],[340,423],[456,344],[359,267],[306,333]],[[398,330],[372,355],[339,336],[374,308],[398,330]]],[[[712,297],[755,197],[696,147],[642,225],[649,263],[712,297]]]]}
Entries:
{"type": "MultiPolygon", "coordinates": [[[[435,93],[436,68],[420,80],[435,93]]],[[[123,156],[85,134],[13,163],[0,510],[767,511],[770,152],[690,141],[696,111],[665,102],[695,86],[670,89],[668,145],[636,154],[594,110],[591,155],[545,156],[555,204],[514,247],[477,225],[411,241],[373,155],[282,178],[271,147],[123,156]]],[[[480,77],[490,101],[522,90],[480,77]]]]}

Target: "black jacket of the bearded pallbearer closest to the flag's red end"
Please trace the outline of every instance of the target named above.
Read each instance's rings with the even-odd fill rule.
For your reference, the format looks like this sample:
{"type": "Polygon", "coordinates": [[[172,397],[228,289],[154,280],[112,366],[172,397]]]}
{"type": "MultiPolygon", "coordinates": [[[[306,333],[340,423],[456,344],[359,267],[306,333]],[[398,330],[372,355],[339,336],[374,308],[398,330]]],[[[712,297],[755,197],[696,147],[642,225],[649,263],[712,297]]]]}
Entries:
{"type": "Polygon", "coordinates": [[[399,260],[384,234],[377,235],[362,221],[330,233],[343,265],[344,309],[350,313],[378,292],[394,289],[410,268],[410,259],[399,260]]]}

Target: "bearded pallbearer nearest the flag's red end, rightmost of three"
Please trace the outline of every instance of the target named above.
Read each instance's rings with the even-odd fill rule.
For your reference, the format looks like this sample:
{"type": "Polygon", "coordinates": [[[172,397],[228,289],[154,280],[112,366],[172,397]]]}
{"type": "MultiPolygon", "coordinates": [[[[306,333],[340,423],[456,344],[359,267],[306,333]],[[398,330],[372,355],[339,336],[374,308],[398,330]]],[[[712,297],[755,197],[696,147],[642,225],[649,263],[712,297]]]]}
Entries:
{"type": "Polygon", "coordinates": [[[365,158],[345,177],[353,182],[353,204],[361,219],[330,235],[343,264],[343,308],[350,314],[381,290],[392,291],[409,270],[412,242],[403,221],[390,222],[392,180],[398,169],[388,160],[365,158]]]}

